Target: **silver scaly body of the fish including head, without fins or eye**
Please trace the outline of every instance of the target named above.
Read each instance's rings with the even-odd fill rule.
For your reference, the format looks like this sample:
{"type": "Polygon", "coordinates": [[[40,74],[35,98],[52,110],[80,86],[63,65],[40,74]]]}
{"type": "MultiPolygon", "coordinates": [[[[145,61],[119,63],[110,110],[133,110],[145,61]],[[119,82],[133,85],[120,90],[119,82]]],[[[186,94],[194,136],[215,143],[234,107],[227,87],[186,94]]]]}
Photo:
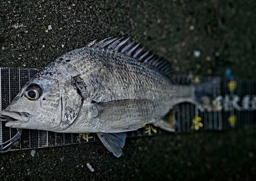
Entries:
{"type": "Polygon", "coordinates": [[[6,110],[27,112],[36,125],[28,122],[26,128],[74,133],[121,132],[154,123],[184,98],[179,90],[190,88],[174,85],[125,54],[87,47],[58,57],[27,85],[6,110]],[[37,100],[22,96],[31,83],[44,90],[37,100]],[[125,125],[130,129],[119,129],[125,125]]]}

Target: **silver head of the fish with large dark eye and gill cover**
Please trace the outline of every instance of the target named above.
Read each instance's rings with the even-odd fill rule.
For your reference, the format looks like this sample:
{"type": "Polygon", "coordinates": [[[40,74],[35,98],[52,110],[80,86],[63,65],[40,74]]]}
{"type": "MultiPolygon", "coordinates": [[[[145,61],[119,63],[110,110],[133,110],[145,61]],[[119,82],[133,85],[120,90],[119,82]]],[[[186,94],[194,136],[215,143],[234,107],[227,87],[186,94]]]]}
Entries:
{"type": "Polygon", "coordinates": [[[7,127],[60,132],[76,118],[81,97],[69,80],[37,77],[30,80],[4,110],[13,118],[7,127]]]}

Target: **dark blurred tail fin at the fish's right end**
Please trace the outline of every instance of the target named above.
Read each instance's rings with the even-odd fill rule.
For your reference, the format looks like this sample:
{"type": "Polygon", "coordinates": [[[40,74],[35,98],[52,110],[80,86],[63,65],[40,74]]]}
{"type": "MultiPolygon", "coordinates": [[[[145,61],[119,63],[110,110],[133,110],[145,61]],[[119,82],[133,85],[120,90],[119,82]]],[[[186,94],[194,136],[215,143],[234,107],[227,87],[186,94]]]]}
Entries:
{"type": "Polygon", "coordinates": [[[212,104],[214,97],[218,95],[221,87],[221,79],[219,77],[207,80],[194,79],[193,101],[202,105],[208,110],[218,110],[215,104],[212,104]]]}

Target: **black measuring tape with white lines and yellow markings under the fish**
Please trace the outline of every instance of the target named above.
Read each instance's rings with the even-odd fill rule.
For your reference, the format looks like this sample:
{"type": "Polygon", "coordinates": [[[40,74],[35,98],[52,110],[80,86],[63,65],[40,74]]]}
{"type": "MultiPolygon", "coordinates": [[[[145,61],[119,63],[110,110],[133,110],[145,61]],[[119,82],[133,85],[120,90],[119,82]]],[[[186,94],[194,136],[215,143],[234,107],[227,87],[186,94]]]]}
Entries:
{"type": "MultiPolygon", "coordinates": [[[[11,103],[20,88],[38,71],[39,69],[0,67],[0,110],[11,103]]],[[[212,78],[176,77],[177,83],[181,84],[188,84],[191,81],[199,83],[210,79],[212,78]]],[[[256,95],[254,93],[256,93],[256,81],[219,79],[221,80],[220,85],[213,87],[216,90],[211,100],[211,104],[215,105],[218,111],[202,111],[198,106],[190,103],[176,105],[173,109],[173,115],[166,120],[174,125],[176,133],[223,130],[255,125],[256,95]]],[[[146,125],[136,131],[126,133],[127,137],[142,137],[169,132],[153,125],[146,125]]],[[[9,128],[5,127],[5,122],[4,120],[1,121],[0,117],[0,152],[96,141],[99,141],[96,133],[56,133],[44,130],[9,128]]]]}

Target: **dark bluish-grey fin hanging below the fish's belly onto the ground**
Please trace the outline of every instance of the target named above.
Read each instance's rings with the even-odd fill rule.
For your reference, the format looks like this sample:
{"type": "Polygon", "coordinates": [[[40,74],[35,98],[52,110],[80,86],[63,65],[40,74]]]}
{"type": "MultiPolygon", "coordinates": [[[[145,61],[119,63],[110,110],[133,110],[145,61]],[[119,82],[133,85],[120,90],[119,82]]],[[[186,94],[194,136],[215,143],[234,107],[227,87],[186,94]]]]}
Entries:
{"type": "Polygon", "coordinates": [[[118,133],[103,133],[97,132],[97,135],[103,145],[112,152],[116,157],[120,157],[122,155],[122,149],[125,144],[126,133],[118,132],[118,133]]]}

